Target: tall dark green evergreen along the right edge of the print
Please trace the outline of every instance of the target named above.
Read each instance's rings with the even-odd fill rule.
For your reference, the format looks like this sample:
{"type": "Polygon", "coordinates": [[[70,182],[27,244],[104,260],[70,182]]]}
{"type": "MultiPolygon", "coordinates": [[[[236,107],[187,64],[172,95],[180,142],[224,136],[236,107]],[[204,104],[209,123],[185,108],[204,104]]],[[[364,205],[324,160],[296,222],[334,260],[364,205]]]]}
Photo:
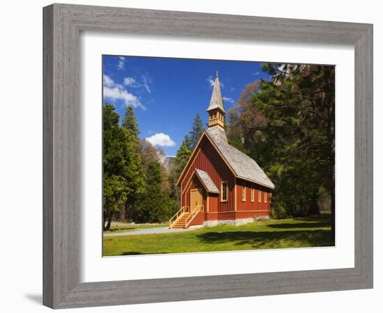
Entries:
{"type": "MultiPolygon", "coordinates": [[[[272,74],[273,81],[263,83],[255,104],[267,118],[280,121],[279,129],[283,130],[280,136],[285,141],[286,151],[297,155],[299,164],[311,161],[304,170],[312,175],[306,179],[311,182],[308,186],[312,186],[311,193],[307,193],[308,209],[318,213],[318,189],[325,187],[331,196],[331,236],[334,239],[335,67],[269,64],[264,65],[264,70],[272,74]],[[270,96],[274,96],[273,102],[267,99],[270,96]]],[[[275,126],[271,129],[275,130],[275,126]]]]}

